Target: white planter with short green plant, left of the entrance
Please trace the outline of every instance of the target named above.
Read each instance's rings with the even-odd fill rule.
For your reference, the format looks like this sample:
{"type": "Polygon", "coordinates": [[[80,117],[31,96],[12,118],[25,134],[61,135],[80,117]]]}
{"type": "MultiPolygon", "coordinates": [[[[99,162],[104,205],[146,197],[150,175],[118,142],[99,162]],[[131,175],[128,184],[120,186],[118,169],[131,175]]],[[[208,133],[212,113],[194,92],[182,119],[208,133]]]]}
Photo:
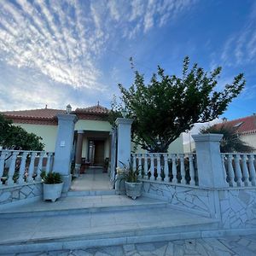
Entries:
{"type": "Polygon", "coordinates": [[[56,201],[61,197],[63,182],[59,172],[48,172],[43,177],[44,200],[56,201]]]}

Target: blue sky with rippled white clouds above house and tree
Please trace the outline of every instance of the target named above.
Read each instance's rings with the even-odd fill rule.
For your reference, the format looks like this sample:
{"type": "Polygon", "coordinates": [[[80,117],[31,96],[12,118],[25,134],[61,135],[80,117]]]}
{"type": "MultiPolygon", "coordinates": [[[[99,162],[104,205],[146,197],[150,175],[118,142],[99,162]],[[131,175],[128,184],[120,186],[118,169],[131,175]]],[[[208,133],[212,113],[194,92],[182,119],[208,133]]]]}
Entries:
{"type": "Polygon", "coordinates": [[[148,79],[157,65],[181,73],[186,55],[223,67],[218,89],[244,73],[224,116],[256,113],[253,0],[0,0],[0,110],[109,108],[133,81],[130,56],[148,79]]]}

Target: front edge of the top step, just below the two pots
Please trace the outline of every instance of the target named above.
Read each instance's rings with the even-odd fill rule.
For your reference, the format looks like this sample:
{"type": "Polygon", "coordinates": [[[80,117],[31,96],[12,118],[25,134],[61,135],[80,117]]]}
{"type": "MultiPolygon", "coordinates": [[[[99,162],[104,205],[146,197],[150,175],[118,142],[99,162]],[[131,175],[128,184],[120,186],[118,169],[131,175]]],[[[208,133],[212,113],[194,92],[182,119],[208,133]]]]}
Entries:
{"type": "Polygon", "coordinates": [[[55,215],[67,215],[70,213],[94,213],[94,212],[111,212],[111,211],[129,211],[131,209],[145,209],[152,207],[169,207],[167,202],[147,202],[144,204],[137,205],[108,205],[98,207],[76,207],[76,208],[65,208],[65,209],[46,209],[38,210],[33,212],[22,211],[22,212],[0,212],[0,218],[24,218],[24,217],[40,217],[40,216],[55,216],[55,215]]]}

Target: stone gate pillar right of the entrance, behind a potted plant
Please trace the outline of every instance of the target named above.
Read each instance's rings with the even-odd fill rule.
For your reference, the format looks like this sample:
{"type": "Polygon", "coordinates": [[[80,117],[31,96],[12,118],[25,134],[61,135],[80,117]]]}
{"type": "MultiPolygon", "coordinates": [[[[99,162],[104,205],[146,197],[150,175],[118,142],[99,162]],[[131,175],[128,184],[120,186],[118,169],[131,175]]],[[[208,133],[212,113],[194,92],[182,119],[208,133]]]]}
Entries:
{"type": "MultiPolygon", "coordinates": [[[[117,166],[129,166],[131,162],[131,124],[133,119],[116,119],[117,128],[117,166]]],[[[115,190],[118,194],[125,194],[124,175],[117,174],[115,177],[115,190]]]]}

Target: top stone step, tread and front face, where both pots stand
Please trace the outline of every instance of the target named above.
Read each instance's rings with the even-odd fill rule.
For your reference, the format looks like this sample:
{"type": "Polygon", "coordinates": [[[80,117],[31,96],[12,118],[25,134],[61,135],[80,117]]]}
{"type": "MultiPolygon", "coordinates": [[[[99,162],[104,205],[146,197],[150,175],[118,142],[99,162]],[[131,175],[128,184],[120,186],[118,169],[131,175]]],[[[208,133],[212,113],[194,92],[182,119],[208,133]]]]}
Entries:
{"type": "Polygon", "coordinates": [[[20,206],[9,206],[0,210],[0,218],[37,216],[58,216],[76,213],[124,211],[152,207],[164,208],[165,201],[137,198],[136,201],[125,195],[67,196],[58,201],[37,201],[20,206]]]}

